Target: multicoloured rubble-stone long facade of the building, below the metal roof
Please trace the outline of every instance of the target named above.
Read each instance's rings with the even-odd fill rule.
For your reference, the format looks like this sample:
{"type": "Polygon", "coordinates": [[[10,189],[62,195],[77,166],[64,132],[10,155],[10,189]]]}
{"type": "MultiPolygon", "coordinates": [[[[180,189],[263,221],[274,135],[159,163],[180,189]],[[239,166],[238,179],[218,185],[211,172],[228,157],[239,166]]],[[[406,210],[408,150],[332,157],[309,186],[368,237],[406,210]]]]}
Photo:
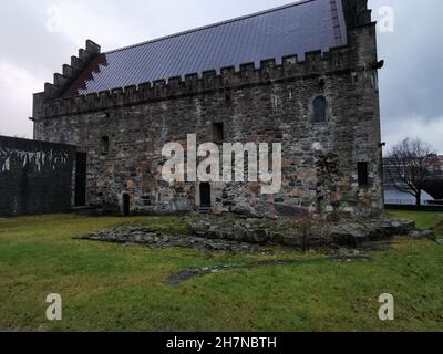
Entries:
{"type": "Polygon", "coordinates": [[[198,184],[162,179],[166,143],[197,134],[213,140],[224,123],[229,143],[281,143],[282,189],[260,195],[257,184],[213,184],[214,212],[253,216],[315,212],[378,216],[383,210],[381,137],[373,23],[348,30],[349,45],[329,53],[286,58],[281,65],[241,65],[72,98],[34,101],[37,139],[66,142],[87,153],[87,202],[137,212],[174,212],[199,206],[198,184]],[[313,123],[312,102],[328,102],[326,123],[313,123]],[[110,150],[102,152],[103,137],[110,150]],[[369,164],[369,186],[358,163],[369,164]]]}

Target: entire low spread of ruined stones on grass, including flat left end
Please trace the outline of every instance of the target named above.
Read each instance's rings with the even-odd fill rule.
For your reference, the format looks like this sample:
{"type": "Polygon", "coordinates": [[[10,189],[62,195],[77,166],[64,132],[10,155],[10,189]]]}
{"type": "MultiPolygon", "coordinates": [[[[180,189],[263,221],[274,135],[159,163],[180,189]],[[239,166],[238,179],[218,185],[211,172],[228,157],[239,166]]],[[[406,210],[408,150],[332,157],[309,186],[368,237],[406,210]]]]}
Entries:
{"type": "Polygon", "coordinates": [[[234,216],[187,218],[190,235],[163,235],[142,223],[126,223],[81,239],[155,248],[194,248],[213,252],[272,252],[269,246],[297,250],[361,248],[368,242],[406,235],[413,239],[435,240],[431,231],[415,230],[406,220],[324,220],[254,219],[234,216]]]}

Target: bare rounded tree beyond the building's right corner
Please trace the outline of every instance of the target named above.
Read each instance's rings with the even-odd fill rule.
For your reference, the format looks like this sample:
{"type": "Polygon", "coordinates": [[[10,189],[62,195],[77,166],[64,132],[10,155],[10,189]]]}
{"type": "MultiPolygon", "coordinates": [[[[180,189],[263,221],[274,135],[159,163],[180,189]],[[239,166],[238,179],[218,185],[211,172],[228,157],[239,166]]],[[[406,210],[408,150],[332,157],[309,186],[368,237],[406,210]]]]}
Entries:
{"type": "Polygon", "coordinates": [[[395,189],[412,195],[420,206],[425,184],[435,174],[435,158],[436,154],[429,144],[406,138],[388,155],[387,177],[395,189]]]}

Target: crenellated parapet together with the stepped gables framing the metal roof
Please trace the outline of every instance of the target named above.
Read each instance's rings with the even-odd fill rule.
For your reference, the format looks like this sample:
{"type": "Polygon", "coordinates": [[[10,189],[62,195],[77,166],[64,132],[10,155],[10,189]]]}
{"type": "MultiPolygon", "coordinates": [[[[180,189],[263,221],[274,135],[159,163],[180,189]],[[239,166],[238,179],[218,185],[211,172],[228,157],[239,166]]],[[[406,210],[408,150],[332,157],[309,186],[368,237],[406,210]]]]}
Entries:
{"type": "MultiPolygon", "coordinates": [[[[332,4],[337,4],[332,1],[332,4]],[[333,3],[332,3],[333,2],[333,3]]],[[[329,52],[309,52],[303,60],[297,55],[276,58],[257,63],[189,73],[184,76],[165,77],[154,82],[141,83],[126,87],[78,95],[85,88],[93,73],[106,65],[106,53],[87,40],[85,49],[80,49],[78,56],[71,58],[71,64],[64,64],[61,73],[55,73],[53,83],[44,85],[44,92],[34,94],[32,119],[79,114],[135,105],[153,101],[169,100],[181,96],[197,95],[210,91],[229,91],[237,87],[264,85],[285,80],[295,81],[305,76],[324,76],[340,70],[352,72],[374,70],[377,61],[374,27],[370,25],[371,10],[367,0],[342,0],[348,27],[347,45],[331,49],[329,52]]],[[[332,7],[332,10],[337,8],[332,7]]],[[[332,11],[333,13],[333,11],[332,11]]]]}

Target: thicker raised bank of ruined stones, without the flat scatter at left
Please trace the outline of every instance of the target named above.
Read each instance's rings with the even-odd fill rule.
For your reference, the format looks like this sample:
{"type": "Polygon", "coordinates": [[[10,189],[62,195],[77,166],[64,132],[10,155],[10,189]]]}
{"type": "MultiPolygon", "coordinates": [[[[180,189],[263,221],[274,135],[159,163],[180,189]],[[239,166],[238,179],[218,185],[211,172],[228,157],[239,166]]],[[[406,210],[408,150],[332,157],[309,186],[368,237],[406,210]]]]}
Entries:
{"type": "Polygon", "coordinates": [[[308,247],[358,247],[364,242],[390,239],[395,235],[408,235],[415,229],[415,223],[391,219],[329,222],[207,216],[190,219],[189,228],[197,237],[307,249],[308,247]]]}

